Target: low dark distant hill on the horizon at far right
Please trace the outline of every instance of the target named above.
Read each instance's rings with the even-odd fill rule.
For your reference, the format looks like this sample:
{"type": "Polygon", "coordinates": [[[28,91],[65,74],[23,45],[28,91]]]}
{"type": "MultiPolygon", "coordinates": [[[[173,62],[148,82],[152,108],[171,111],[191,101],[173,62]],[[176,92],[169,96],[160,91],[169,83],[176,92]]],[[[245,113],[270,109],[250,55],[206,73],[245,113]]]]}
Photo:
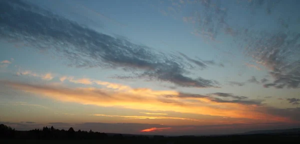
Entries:
{"type": "Polygon", "coordinates": [[[241,135],[255,135],[255,134],[300,134],[299,129],[284,129],[284,130],[262,130],[262,131],[250,131],[242,133],[241,135]]]}

